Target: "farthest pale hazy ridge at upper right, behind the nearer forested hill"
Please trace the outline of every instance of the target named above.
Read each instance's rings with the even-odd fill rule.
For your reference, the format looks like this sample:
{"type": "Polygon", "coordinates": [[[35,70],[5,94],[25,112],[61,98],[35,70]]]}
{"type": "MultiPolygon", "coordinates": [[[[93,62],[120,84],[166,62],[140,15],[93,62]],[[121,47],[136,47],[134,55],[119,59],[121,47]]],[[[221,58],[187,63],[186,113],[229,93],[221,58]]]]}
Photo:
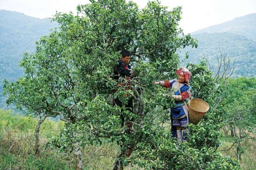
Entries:
{"type": "Polygon", "coordinates": [[[231,21],[221,23],[218,25],[210,26],[192,34],[203,33],[232,33],[240,36],[245,36],[248,39],[256,41],[256,13],[237,17],[231,21]]]}

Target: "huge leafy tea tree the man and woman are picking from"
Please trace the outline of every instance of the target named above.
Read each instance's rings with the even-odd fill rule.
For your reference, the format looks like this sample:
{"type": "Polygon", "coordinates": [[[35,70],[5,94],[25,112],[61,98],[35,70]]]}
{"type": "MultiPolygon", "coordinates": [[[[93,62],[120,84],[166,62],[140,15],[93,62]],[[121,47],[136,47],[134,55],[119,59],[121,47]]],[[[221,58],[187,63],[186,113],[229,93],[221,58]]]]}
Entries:
{"type": "MultiPolygon", "coordinates": [[[[81,147],[101,144],[103,140],[120,146],[113,170],[122,170],[125,166],[224,169],[224,165],[225,169],[239,169],[237,162],[221,158],[216,151],[219,126],[215,125],[211,113],[197,126],[191,125],[198,136],[193,134],[188,142],[179,146],[171,137],[170,129],[163,125],[169,120],[167,108],[173,107],[173,99],[167,97],[168,90],[153,86],[153,82],[175,78],[179,66],[176,51],[190,45],[197,47],[197,40],[178,28],[181,7],[168,11],[153,1],[139,10],[131,1],[91,0],[91,4],[80,5],[77,10],[83,15],[57,13],[53,20],[60,28],[42,37],[36,53],[25,54],[21,62],[25,74],[31,74],[28,81],[43,84],[42,91],[39,88],[38,94],[31,93],[31,98],[45,95],[41,101],[46,102],[45,113],[58,114],[66,122],[66,127],[53,136],[47,146],[64,152],[74,150],[75,169],[82,169],[81,147]],[[132,53],[131,90],[118,87],[118,82],[125,80],[113,79],[113,70],[123,49],[132,53]],[[121,126],[122,108],[112,107],[112,100],[117,97],[122,102],[133,97],[134,112],[122,114],[125,123],[133,120],[135,133],[121,126]]],[[[191,64],[188,68],[193,74],[193,95],[210,100],[209,90],[215,83],[206,63],[191,64]]],[[[14,85],[5,82],[9,89],[14,85]]],[[[25,87],[31,90],[30,84],[25,87]]],[[[19,91],[10,93],[15,95],[19,91]]]]}

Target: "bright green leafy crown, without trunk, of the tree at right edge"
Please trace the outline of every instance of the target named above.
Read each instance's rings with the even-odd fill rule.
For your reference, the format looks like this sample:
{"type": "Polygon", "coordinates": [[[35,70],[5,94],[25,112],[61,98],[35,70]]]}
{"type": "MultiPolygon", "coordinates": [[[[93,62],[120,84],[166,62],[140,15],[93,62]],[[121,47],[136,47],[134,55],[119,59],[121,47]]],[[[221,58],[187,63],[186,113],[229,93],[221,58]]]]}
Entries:
{"type": "Polygon", "coordinates": [[[232,123],[239,129],[255,131],[255,78],[240,77],[229,79],[226,86],[226,96],[223,99],[224,108],[222,119],[232,123]]]}

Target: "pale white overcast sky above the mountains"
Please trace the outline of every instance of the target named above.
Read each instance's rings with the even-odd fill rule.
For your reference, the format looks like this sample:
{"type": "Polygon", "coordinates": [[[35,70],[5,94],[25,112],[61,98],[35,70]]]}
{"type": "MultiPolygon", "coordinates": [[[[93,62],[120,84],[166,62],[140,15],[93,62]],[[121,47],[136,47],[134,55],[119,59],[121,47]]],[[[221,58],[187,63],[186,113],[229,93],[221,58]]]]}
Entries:
{"type": "MultiPolygon", "coordinates": [[[[145,0],[133,1],[140,9],[147,4],[145,0]]],[[[162,0],[160,2],[169,9],[182,6],[180,27],[184,29],[185,34],[256,13],[256,0],[162,0]]],[[[72,11],[76,14],[78,4],[88,3],[88,0],[0,0],[0,9],[17,11],[36,18],[47,18],[56,11],[72,11]]]]}

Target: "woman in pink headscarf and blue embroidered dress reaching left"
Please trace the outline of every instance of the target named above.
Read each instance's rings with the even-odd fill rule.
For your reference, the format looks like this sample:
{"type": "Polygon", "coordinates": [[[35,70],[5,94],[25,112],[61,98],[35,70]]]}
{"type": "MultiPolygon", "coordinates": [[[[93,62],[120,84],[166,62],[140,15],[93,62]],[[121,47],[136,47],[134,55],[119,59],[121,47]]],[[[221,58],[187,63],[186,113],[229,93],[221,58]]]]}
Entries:
{"type": "Polygon", "coordinates": [[[186,102],[191,95],[190,85],[188,84],[191,73],[188,69],[181,67],[176,71],[176,74],[178,74],[179,80],[158,81],[154,82],[153,85],[160,84],[165,88],[172,89],[171,97],[174,98],[176,106],[171,108],[171,131],[173,137],[176,137],[178,142],[184,142],[187,140],[185,131],[188,133],[186,126],[189,124],[189,117],[183,100],[186,102]]]}

